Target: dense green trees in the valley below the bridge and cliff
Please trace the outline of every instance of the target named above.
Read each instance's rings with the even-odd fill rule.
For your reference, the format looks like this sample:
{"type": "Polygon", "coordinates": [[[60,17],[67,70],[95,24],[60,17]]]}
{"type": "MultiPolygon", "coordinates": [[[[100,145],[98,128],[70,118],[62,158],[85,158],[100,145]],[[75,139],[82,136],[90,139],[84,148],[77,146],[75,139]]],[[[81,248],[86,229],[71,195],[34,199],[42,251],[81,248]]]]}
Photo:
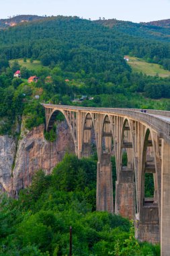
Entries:
{"type": "Polygon", "coordinates": [[[95,212],[96,164],[67,154],[51,175],[38,171],[17,201],[3,195],[0,255],[69,255],[72,226],[75,256],[159,256],[159,245],[136,241],[128,220],[95,212]]]}

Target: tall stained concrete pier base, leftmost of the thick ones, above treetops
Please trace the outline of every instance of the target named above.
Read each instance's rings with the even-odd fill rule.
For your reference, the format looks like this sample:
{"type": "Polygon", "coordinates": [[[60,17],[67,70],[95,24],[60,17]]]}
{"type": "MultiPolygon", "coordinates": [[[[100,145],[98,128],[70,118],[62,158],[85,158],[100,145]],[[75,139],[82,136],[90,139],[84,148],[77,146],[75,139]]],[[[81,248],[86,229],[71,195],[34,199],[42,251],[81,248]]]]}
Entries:
{"type": "Polygon", "coordinates": [[[114,213],[110,154],[102,154],[100,162],[97,162],[96,210],[114,213]]]}

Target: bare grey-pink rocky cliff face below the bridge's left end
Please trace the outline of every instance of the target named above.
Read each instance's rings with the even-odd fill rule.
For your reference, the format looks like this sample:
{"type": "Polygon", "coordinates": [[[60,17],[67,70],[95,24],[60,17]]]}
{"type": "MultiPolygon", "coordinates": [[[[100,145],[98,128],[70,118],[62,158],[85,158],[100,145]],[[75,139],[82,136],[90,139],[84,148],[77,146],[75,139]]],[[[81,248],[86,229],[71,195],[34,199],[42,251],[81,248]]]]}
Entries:
{"type": "Polygon", "coordinates": [[[40,125],[32,131],[22,131],[17,145],[7,136],[0,137],[1,190],[17,197],[19,189],[32,183],[37,170],[43,169],[49,174],[65,152],[75,151],[66,122],[58,124],[56,133],[56,141],[48,142],[44,139],[44,125],[40,125]]]}

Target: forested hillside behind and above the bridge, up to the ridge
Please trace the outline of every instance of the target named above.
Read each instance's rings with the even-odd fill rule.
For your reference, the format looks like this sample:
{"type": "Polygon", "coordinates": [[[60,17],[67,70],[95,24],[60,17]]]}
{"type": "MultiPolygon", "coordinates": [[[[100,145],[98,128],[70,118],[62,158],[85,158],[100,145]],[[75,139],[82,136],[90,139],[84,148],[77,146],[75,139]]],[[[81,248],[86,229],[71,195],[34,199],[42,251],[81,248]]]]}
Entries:
{"type": "Polygon", "coordinates": [[[40,102],[170,109],[170,77],[134,73],[124,61],[124,55],[133,55],[170,69],[169,42],[132,36],[122,32],[122,26],[110,28],[102,22],[58,16],[0,31],[0,134],[15,133],[23,114],[28,129],[43,123],[40,102]],[[17,61],[9,65],[19,58],[30,64],[39,60],[42,66],[34,70],[17,61]],[[18,69],[22,79],[13,78],[18,69]],[[39,77],[38,83],[28,84],[31,75],[39,77]],[[82,95],[86,100],[73,102],[82,95]]]}

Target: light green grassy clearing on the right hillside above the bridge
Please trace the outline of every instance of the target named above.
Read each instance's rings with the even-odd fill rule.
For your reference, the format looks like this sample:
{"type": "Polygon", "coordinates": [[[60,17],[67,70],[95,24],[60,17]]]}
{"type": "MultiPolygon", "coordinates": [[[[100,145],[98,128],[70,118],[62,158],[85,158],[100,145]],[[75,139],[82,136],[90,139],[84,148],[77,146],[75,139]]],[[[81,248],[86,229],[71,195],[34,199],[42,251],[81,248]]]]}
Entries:
{"type": "Polygon", "coordinates": [[[129,57],[128,64],[132,67],[132,70],[135,72],[142,72],[146,75],[159,75],[160,77],[168,77],[170,75],[170,71],[163,69],[158,64],[147,63],[142,59],[138,59],[136,57],[129,57]]]}

